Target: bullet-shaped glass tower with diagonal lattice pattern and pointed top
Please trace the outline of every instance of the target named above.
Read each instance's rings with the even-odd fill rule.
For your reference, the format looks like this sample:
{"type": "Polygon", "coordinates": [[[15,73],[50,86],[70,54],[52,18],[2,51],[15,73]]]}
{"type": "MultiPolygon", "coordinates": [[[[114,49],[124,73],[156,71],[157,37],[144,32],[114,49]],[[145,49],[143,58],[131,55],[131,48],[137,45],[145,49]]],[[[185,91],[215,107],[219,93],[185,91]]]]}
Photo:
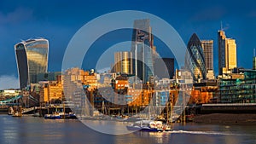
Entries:
{"type": "Polygon", "coordinates": [[[194,81],[206,79],[207,70],[205,56],[201,48],[201,41],[195,33],[189,39],[185,57],[185,68],[192,73],[194,81]]]}

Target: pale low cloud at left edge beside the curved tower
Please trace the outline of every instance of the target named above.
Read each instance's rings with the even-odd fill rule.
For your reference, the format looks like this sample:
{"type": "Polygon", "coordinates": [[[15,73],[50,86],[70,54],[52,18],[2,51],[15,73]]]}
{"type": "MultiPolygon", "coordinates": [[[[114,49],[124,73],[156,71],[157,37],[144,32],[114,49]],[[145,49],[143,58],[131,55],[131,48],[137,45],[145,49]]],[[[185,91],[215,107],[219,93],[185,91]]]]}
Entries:
{"type": "Polygon", "coordinates": [[[0,76],[0,89],[17,89],[19,87],[19,79],[15,75],[0,76]]]}

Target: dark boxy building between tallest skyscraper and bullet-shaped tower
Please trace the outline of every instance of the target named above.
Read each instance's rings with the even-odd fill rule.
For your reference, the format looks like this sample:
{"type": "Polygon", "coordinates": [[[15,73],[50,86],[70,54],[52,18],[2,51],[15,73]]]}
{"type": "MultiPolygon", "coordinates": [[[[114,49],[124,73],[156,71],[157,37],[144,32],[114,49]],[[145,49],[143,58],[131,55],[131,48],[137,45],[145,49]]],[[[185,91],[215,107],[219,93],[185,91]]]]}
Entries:
{"type": "Polygon", "coordinates": [[[154,75],[158,78],[173,78],[174,59],[173,58],[155,58],[154,75]]]}

